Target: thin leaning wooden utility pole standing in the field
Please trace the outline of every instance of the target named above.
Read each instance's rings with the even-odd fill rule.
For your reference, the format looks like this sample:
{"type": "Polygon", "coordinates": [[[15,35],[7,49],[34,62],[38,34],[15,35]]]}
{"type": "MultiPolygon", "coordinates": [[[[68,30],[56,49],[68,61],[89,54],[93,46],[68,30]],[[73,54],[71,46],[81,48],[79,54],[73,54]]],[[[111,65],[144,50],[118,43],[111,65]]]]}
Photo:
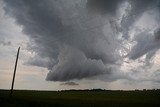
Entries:
{"type": "Polygon", "coordinates": [[[12,79],[12,86],[11,86],[10,97],[12,97],[12,93],[13,93],[13,87],[14,87],[14,80],[15,80],[15,75],[16,75],[17,62],[18,62],[18,57],[19,57],[19,51],[20,51],[20,47],[18,48],[18,52],[17,52],[16,62],[15,62],[15,67],[14,67],[14,73],[13,73],[13,79],[12,79]]]}

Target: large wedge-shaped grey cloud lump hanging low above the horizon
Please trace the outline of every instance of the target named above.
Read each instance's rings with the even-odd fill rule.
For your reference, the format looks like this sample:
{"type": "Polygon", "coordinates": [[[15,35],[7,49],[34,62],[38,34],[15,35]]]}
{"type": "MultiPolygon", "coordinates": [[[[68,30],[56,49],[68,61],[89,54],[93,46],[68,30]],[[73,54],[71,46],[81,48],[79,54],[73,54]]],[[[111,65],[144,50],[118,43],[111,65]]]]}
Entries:
{"type": "Polygon", "coordinates": [[[58,60],[59,63],[48,73],[47,80],[67,81],[109,73],[101,60],[87,59],[85,54],[77,49],[63,49],[58,60]]]}

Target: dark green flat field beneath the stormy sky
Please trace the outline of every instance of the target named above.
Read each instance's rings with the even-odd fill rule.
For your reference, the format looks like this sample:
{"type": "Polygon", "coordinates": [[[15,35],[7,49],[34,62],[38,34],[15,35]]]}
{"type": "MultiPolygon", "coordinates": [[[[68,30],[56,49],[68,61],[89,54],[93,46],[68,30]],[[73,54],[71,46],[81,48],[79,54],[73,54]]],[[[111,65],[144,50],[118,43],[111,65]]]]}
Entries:
{"type": "Polygon", "coordinates": [[[0,90],[0,107],[160,107],[160,90],[25,91],[0,90]]]}

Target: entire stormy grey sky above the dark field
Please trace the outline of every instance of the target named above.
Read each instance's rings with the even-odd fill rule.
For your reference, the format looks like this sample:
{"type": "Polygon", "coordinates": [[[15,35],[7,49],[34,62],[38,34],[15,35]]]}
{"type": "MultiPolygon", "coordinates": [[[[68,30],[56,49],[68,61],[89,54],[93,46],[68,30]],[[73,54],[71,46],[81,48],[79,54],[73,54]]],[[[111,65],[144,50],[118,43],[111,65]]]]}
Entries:
{"type": "Polygon", "coordinates": [[[0,89],[160,88],[160,0],[0,0],[0,89]]]}

